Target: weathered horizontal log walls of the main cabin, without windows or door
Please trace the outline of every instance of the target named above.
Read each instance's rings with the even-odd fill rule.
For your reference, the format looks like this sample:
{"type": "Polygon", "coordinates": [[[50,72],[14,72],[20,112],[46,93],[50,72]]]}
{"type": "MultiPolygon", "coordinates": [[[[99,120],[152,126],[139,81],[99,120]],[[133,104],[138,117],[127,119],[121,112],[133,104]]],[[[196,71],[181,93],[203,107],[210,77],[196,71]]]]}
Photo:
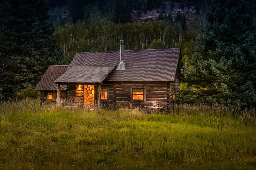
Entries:
{"type": "MultiPolygon", "coordinates": [[[[116,107],[122,105],[152,105],[153,100],[162,106],[172,103],[173,88],[175,88],[175,97],[178,99],[180,91],[180,81],[176,77],[175,81],[105,81],[102,82],[101,88],[108,88],[108,100],[101,100],[103,107],[116,107]],[[144,101],[132,101],[131,88],[144,88],[144,101]]],[[[98,103],[98,86],[94,86],[94,101],[98,103]]],[[[57,93],[56,93],[57,95],[57,93]]],[[[56,96],[54,94],[54,97],[56,96]]],[[[84,93],[84,86],[78,89],[77,85],[67,86],[67,99],[75,105],[83,105],[87,101],[87,93],[84,93]],[[85,94],[85,96],[84,96],[85,94]]]]}

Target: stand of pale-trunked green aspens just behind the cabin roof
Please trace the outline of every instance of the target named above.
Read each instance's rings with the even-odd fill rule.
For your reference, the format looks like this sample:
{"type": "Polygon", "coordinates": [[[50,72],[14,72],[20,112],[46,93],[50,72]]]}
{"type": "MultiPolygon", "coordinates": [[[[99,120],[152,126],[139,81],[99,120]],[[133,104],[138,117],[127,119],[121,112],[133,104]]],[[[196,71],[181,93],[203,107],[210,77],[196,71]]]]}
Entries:
{"type": "Polygon", "coordinates": [[[179,23],[164,20],[116,24],[106,18],[92,14],[87,21],[78,20],[76,24],[58,27],[61,46],[67,61],[72,60],[77,52],[116,51],[119,40],[124,39],[125,50],[148,49],[154,39],[164,42],[173,48],[183,38],[183,30],[179,23]]]}

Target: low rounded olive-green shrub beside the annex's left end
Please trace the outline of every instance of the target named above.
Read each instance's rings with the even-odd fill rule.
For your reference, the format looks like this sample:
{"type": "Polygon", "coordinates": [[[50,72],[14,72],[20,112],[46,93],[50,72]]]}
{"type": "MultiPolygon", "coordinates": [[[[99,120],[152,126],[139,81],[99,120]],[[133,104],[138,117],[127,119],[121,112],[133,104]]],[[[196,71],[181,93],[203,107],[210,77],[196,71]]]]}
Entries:
{"type": "Polygon", "coordinates": [[[37,98],[39,96],[39,92],[34,90],[33,87],[29,86],[25,89],[21,89],[20,91],[16,91],[14,94],[14,98],[16,99],[25,99],[28,98],[37,98]]]}

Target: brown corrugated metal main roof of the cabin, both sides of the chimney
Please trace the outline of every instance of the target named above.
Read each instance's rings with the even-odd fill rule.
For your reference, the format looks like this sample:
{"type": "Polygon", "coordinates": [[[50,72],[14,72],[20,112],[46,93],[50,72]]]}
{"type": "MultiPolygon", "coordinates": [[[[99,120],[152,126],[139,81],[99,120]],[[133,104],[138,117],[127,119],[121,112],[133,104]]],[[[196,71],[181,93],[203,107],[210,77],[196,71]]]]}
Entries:
{"type": "MultiPolygon", "coordinates": [[[[183,69],[182,63],[178,65],[178,62],[182,62],[182,60],[179,61],[179,57],[181,57],[180,48],[125,50],[125,70],[113,70],[104,81],[174,81],[177,67],[179,66],[180,69],[183,69]]],[[[101,65],[114,65],[117,67],[119,59],[120,51],[76,53],[67,70],[71,71],[77,66],[98,67],[101,65]]],[[[71,75],[71,73],[69,74],[71,75]]],[[[85,76],[85,74],[79,73],[78,77],[85,81],[86,78],[82,75],[85,76]]],[[[75,74],[73,73],[72,76],[75,76],[75,74]]],[[[97,78],[97,76],[93,77],[97,78]]],[[[69,77],[66,78],[69,79],[69,77]]],[[[97,81],[99,79],[101,77],[97,78],[97,81]]],[[[76,80],[79,81],[79,79],[76,80]]]]}

